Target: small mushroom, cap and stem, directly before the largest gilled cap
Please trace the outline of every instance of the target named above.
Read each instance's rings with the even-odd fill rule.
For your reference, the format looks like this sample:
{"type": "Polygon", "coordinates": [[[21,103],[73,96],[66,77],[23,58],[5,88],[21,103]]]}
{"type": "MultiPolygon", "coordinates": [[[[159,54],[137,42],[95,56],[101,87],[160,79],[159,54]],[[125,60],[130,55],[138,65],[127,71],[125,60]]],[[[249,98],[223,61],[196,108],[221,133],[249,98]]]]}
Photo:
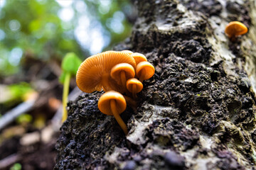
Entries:
{"type": "Polygon", "coordinates": [[[111,69],[110,76],[117,81],[117,84],[122,85],[122,87],[126,89],[127,79],[131,79],[135,76],[134,67],[127,63],[117,64],[111,69]]]}

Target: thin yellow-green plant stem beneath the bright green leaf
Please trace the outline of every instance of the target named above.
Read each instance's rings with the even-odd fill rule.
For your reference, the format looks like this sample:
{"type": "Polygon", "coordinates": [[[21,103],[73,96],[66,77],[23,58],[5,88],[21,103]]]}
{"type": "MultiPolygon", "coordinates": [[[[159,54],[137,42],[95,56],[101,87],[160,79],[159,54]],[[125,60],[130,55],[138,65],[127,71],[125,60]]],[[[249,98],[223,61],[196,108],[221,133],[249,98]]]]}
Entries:
{"type": "Polygon", "coordinates": [[[70,73],[67,73],[65,75],[64,86],[63,86],[63,118],[62,118],[62,122],[64,122],[68,118],[68,112],[66,110],[66,107],[67,107],[67,103],[68,103],[68,90],[69,90],[69,84],[70,84],[70,77],[71,77],[70,73]]]}

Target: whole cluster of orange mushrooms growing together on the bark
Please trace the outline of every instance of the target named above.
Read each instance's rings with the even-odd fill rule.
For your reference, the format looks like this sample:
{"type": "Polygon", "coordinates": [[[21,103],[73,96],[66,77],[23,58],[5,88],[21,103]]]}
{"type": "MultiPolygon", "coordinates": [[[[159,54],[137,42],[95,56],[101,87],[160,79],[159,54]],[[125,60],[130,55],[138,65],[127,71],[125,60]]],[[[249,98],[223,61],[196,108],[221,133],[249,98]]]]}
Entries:
{"type": "Polygon", "coordinates": [[[154,71],[154,66],[138,52],[107,51],[92,55],[82,62],[76,82],[79,89],[86,93],[102,89],[106,91],[100,97],[98,108],[102,113],[114,115],[127,135],[127,126],[119,114],[125,110],[126,102],[132,103],[129,95],[136,99],[137,93],[143,89],[142,81],[150,79],[154,71]]]}

